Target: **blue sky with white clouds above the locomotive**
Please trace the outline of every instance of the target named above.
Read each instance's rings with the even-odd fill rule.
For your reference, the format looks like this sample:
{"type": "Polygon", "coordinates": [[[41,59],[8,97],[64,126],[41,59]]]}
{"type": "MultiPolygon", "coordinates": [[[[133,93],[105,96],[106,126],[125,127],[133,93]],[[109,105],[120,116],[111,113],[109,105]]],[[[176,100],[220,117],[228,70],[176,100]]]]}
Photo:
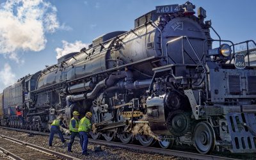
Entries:
{"type": "MultiPolygon", "coordinates": [[[[57,48],[57,51],[65,52],[65,45],[82,46],[90,44],[94,38],[104,33],[129,31],[134,27],[134,19],[154,10],[155,6],[186,2],[185,0],[34,1],[38,1],[38,4],[26,8],[25,0],[0,0],[0,90],[26,74],[33,74],[45,68],[45,65],[56,63],[57,48]],[[6,9],[8,4],[13,6],[6,9]],[[24,12],[20,8],[31,12],[24,12]],[[4,15],[7,13],[6,10],[13,15],[10,17],[4,15]],[[17,22],[14,23],[12,20],[17,22]],[[7,33],[10,36],[6,36],[7,33]],[[12,40],[6,41],[6,37],[11,37],[12,40]],[[22,40],[29,41],[25,43],[22,40]]],[[[191,3],[196,5],[196,10],[202,6],[207,11],[206,20],[212,20],[212,26],[222,39],[233,42],[256,40],[256,1],[195,0],[191,3]]],[[[216,38],[213,33],[212,36],[216,38]]]]}

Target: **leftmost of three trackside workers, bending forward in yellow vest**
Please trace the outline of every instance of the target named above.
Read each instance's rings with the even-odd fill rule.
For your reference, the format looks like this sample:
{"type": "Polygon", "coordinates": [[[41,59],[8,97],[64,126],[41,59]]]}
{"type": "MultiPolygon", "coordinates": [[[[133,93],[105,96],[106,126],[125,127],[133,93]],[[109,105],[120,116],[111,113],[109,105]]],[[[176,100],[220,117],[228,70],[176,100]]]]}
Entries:
{"type": "Polygon", "coordinates": [[[60,140],[62,141],[63,143],[63,146],[65,146],[65,140],[64,140],[64,137],[63,137],[63,134],[62,132],[60,131],[60,127],[64,127],[65,128],[65,125],[63,124],[63,116],[58,116],[56,118],[56,120],[54,120],[51,124],[51,134],[50,134],[50,138],[49,138],[49,146],[51,147],[52,146],[52,140],[53,140],[53,137],[54,137],[54,134],[58,133],[59,136],[60,136],[60,140]]]}

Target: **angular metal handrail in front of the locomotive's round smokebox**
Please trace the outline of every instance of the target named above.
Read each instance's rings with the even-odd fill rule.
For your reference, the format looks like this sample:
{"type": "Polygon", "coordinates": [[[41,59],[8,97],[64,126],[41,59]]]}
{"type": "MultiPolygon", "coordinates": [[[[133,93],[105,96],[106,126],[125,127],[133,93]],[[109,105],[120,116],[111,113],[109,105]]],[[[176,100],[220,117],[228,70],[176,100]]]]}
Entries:
{"type": "Polygon", "coordinates": [[[200,60],[200,58],[199,58],[195,48],[193,47],[193,45],[190,42],[188,36],[180,36],[178,38],[175,38],[173,40],[170,40],[170,41],[166,42],[166,61],[167,61],[167,64],[169,62],[168,61],[168,49],[167,49],[168,45],[171,44],[172,42],[175,42],[175,41],[180,40],[180,39],[182,39],[182,62],[183,62],[183,64],[185,63],[185,60],[184,60],[184,38],[186,38],[186,40],[188,40],[188,43],[189,43],[191,49],[193,50],[194,54],[196,55],[197,60],[200,62],[200,65],[202,65],[202,67],[204,68],[204,73],[205,73],[206,72],[206,68],[204,66],[204,63],[202,63],[202,61],[200,60]]]}

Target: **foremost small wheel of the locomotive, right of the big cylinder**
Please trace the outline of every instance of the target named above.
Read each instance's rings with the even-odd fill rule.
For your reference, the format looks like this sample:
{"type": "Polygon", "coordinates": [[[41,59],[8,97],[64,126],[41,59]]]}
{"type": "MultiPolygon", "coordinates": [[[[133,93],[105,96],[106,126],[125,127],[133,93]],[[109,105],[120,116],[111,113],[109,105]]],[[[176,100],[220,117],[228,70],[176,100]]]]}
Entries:
{"type": "Polygon", "coordinates": [[[215,134],[212,126],[207,122],[199,122],[194,130],[194,143],[200,154],[210,154],[215,147],[215,134]]]}

